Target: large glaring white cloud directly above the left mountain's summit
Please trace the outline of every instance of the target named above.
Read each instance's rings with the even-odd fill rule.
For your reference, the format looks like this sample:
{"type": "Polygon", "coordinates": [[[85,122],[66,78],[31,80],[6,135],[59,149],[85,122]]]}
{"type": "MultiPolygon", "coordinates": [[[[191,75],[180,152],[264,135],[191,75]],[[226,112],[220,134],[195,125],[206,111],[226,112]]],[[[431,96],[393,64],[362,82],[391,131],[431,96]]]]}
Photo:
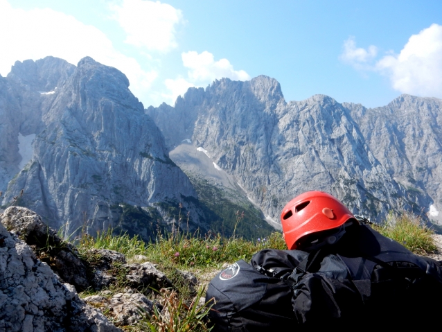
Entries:
{"type": "MultiPolygon", "coordinates": [[[[6,76],[15,61],[38,60],[48,55],[77,64],[81,58],[94,60],[123,71],[136,96],[147,96],[157,78],[134,58],[116,51],[98,28],[51,9],[22,10],[0,0],[0,73],[6,76]]],[[[141,98],[143,101],[143,98],[141,98]]]]}

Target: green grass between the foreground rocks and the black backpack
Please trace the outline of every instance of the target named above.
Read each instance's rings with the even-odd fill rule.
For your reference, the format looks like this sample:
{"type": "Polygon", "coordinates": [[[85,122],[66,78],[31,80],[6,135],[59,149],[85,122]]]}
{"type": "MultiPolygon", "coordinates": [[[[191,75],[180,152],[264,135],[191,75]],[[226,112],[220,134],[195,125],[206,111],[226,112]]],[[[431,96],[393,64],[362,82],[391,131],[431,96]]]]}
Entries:
{"type": "MultiPolygon", "coordinates": [[[[156,309],[154,315],[151,317],[145,315],[145,319],[136,326],[123,327],[124,331],[152,332],[210,331],[206,324],[210,306],[198,306],[200,299],[204,298],[204,286],[197,290],[195,296],[195,290],[189,288],[188,282],[183,280],[182,274],[177,273],[177,270],[191,271],[200,281],[204,281],[202,275],[207,273],[210,275],[211,272],[220,270],[223,263],[233,263],[239,259],[249,261],[255,252],[267,247],[286,249],[282,234],[279,232],[253,242],[236,236],[224,238],[220,234],[200,236],[198,231],[195,234],[182,231],[166,235],[160,232],[156,241],[145,243],[137,235],[115,236],[114,230],[108,229],[98,232],[96,238],[83,236],[77,245],[85,259],[94,259],[87,255],[87,250],[91,248],[116,250],[125,254],[127,261],[133,261],[135,255],[144,255],[145,261],[156,263],[157,268],[168,276],[175,285],[175,290],[161,290],[156,293],[139,290],[139,292],[145,292],[145,295],[152,300],[163,304],[163,310],[173,315],[165,317],[156,309]]],[[[121,292],[123,288],[124,281],[118,282],[109,290],[116,293],[121,292]]],[[[100,294],[88,290],[80,296],[86,297],[96,293],[100,294]]]]}

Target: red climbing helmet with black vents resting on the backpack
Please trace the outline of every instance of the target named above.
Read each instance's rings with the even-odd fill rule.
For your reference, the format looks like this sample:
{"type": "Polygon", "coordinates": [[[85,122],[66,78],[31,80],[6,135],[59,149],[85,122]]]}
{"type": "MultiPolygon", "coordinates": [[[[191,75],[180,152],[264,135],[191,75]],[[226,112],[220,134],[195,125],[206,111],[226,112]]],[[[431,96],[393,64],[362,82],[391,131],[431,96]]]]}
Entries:
{"type": "MultiPolygon", "coordinates": [[[[308,191],[288,202],[281,213],[285,243],[290,250],[296,249],[303,243],[301,238],[306,239],[309,234],[317,232],[327,234],[324,231],[337,229],[349,219],[356,220],[344,204],[332,195],[323,191],[308,191]]],[[[335,243],[344,233],[345,226],[338,235],[335,232],[333,236],[332,232],[326,241],[335,243]]]]}

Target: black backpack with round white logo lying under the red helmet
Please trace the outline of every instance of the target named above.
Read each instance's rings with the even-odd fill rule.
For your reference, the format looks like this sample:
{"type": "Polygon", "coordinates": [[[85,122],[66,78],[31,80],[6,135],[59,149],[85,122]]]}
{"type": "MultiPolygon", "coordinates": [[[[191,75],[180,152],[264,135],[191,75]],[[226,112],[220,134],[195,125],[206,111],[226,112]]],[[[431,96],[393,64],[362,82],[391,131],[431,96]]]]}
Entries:
{"type": "Polygon", "coordinates": [[[361,322],[409,328],[411,317],[436,315],[442,309],[441,265],[370,227],[359,228],[351,250],[261,250],[250,263],[222,270],[206,292],[214,331],[345,331],[361,322]]]}

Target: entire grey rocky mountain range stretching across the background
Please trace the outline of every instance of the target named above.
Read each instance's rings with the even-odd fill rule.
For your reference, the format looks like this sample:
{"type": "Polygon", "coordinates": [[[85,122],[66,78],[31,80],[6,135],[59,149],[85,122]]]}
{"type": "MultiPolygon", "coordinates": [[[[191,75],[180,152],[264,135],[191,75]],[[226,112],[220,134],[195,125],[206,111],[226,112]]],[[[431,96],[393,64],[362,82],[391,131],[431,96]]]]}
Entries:
{"type": "Polygon", "coordinates": [[[91,58],[16,62],[0,76],[0,209],[33,209],[66,236],[232,234],[239,220],[237,234],[257,236],[295,195],[322,190],[373,220],[411,209],[441,223],[441,107],[407,95],[375,109],[287,103],[258,76],[145,109],[123,73],[91,58]]]}

